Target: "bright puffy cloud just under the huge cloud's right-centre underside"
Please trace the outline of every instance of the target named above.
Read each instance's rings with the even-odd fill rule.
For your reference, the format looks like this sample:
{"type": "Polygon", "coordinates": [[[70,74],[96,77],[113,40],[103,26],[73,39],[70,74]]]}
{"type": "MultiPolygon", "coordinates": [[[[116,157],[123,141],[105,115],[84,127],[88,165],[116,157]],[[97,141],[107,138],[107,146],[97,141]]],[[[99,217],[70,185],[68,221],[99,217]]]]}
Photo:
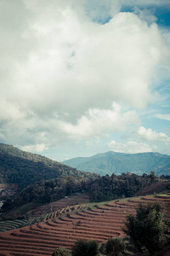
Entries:
{"type": "Polygon", "coordinates": [[[121,106],[114,103],[112,109],[90,109],[87,115],[78,119],[77,125],[63,123],[62,130],[74,139],[101,137],[107,132],[126,131],[128,125],[139,124],[134,111],[122,113],[121,106]]]}

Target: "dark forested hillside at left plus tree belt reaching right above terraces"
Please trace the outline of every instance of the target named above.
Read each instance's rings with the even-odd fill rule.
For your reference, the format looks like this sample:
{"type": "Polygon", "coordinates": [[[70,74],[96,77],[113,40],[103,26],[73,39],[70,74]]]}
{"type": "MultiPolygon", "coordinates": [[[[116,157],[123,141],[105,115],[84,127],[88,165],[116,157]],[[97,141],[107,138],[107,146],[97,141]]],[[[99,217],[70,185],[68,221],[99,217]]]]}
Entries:
{"type": "MultiPolygon", "coordinates": [[[[168,176],[167,176],[168,178],[168,176]]],[[[140,189],[156,183],[155,172],[137,175],[127,172],[105,176],[91,172],[80,172],[70,166],[0,144],[0,181],[17,184],[13,196],[6,196],[2,211],[28,203],[45,204],[58,201],[65,196],[87,193],[90,201],[110,201],[130,197],[140,189]]]]}

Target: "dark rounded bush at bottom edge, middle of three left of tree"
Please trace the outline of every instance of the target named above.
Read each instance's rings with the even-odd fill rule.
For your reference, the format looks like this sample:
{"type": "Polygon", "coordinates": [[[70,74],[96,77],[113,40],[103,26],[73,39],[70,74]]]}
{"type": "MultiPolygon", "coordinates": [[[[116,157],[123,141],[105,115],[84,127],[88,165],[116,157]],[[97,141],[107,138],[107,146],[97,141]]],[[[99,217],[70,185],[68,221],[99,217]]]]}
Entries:
{"type": "Polygon", "coordinates": [[[72,247],[72,256],[98,256],[99,245],[97,241],[80,239],[72,247]]]}

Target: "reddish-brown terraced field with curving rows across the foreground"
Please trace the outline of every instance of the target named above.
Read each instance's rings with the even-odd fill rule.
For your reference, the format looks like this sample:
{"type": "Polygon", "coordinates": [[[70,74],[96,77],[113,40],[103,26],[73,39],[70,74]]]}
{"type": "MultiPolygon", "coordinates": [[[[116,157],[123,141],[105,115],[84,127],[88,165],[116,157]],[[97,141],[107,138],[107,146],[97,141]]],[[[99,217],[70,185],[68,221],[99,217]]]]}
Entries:
{"type": "Polygon", "coordinates": [[[169,216],[168,196],[136,197],[96,207],[88,204],[88,209],[87,205],[65,207],[38,224],[1,233],[0,255],[49,256],[56,247],[71,248],[79,238],[95,239],[100,243],[111,236],[125,236],[122,226],[126,213],[135,214],[139,202],[146,204],[149,201],[159,201],[169,216]]]}

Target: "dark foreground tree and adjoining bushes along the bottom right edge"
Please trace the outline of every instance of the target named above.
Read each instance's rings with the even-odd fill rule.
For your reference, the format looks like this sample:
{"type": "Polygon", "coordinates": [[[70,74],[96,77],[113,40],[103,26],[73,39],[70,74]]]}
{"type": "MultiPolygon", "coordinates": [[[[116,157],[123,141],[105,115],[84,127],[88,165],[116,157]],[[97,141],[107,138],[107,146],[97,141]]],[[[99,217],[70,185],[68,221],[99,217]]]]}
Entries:
{"type": "MultiPolygon", "coordinates": [[[[136,217],[127,215],[124,232],[130,236],[133,244],[139,252],[147,251],[150,255],[161,251],[170,242],[168,227],[165,224],[164,215],[161,212],[161,205],[158,203],[139,205],[136,217]]],[[[107,256],[133,255],[135,247],[128,238],[109,238],[100,247],[97,241],[78,240],[72,247],[72,256],[97,256],[99,252],[107,256]]]]}

